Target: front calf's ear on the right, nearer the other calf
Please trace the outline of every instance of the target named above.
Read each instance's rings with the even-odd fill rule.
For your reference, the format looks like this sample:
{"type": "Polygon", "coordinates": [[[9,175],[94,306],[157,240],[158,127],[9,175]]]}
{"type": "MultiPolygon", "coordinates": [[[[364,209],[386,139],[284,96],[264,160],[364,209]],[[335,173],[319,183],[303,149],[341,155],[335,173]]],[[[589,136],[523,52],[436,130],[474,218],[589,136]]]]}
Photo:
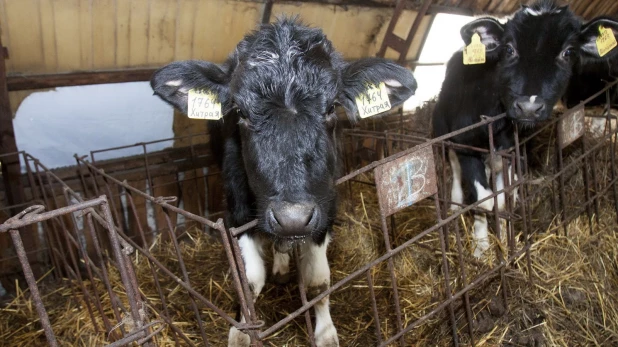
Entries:
{"type": "Polygon", "coordinates": [[[400,105],[416,91],[412,71],[382,58],[363,58],[347,64],[341,74],[343,88],[339,102],[351,121],[360,119],[356,98],[367,90],[367,85],[384,83],[392,107],[400,105]]]}

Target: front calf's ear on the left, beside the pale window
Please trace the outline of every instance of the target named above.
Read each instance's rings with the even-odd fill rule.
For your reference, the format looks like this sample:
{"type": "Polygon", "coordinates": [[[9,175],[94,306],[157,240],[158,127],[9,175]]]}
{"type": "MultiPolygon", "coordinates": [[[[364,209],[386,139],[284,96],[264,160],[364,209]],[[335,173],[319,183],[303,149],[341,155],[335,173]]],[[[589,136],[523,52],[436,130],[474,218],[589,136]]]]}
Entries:
{"type": "Polygon", "coordinates": [[[189,90],[206,89],[216,95],[221,104],[227,101],[227,75],[213,63],[199,60],[177,61],[166,65],[150,78],[156,95],[187,113],[189,90]]]}

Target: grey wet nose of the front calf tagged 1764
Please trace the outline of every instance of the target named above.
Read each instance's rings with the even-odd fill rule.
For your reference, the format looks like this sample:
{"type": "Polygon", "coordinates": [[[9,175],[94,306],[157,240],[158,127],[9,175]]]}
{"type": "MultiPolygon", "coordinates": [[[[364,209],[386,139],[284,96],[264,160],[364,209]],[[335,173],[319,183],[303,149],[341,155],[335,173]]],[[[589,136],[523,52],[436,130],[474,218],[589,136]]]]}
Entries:
{"type": "Polygon", "coordinates": [[[279,203],[271,207],[270,224],[275,233],[283,237],[302,237],[311,234],[314,204],[279,203]]]}

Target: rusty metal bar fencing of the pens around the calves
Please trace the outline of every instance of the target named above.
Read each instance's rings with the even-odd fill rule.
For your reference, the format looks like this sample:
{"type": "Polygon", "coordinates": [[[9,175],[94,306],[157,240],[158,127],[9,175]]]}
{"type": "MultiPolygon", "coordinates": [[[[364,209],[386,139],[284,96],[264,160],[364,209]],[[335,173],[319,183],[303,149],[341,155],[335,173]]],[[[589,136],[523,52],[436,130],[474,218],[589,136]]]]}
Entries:
{"type": "MultiPolygon", "coordinates": [[[[189,205],[189,194],[183,193],[180,199],[155,194],[161,191],[158,190],[161,185],[155,184],[157,180],[153,173],[157,168],[149,162],[152,154],[147,152],[144,144],[138,145],[144,148],[142,166],[113,174],[101,169],[99,166],[102,163],[97,162],[92,153],[90,160],[76,156],[81,181],[80,192],[68,187],[38,160],[26,155],[28,161],[35,166],[35,169],[28,168],[28,175],[33,182],[38,182],[33,185],[40,192],[38,199],[44,201],[48,208],[63,205],[66,207],[50,212],[42,212],[41,207],[30,207],[2,224],[0,232],[11,232],[32,290],[33,300],[37,303],[41,325],[52,345],[55,344],[55,337],[49,322],[43,318],[44,308],[35,294],[37,284],[33,282],[34,277],[28,270],[28,259],[23,255],[17,232],[27,225],[42,221],[48,221],[46,225],[49,228],[45,228],[45,235],[48,235],[47,247],[51,250],[50,258],[54,271],[59,278],[66,277],[73,283],[76,295],[84,301],[93,321],[102,317],[103,325],[99,329],[109,334],[111,346],[129,342],[145,345],[154,343],[164,328],[170,331],[176,344],[209,345],[213,338],[222,334],[226,336],[231,326],[246,332],[255,345],[261,346],[265,339],[276,335],[296,318],[304,318],[307,343],[315,345],[309,310],[325,296],[349,290],[351,283],[362,283],[355,288],[362,288],[358,290],[371,302],[366,308],[370,317],[366,323],[373,326],[375,334],[367,341],[369,344],[409,345],[416,341],[413,332],[415,328],[429,322],[436,324],[438,319],[449,327],[455,345],[475,345],[478,336],[474,326],[479,308],[471,303],[471,293],[489,281],[498,281],[499,295],[496,300],[502,300],[506,304],[510,295],[506,271],[513,267],[530,268],[534,233],[566,230],[570,221],[584,213],[587,214],[593,230],[593,221],[598,218],[600,204],[613,204],[618,216],[615,161],[617,129],[613,125],[615,123],[612,123],[615,122],[615,117],[608,108],[602,115],[606,124],[603,134],[590,139],[588,134],[582,131],[585,128],[583,105],[584,103],[564,112],[526,138],[520,139],[516,130],[516,145],[500,151],[493,147],[491,135],[488,149],[455,144],[450,139],[479,127],[487,127],[489,134],[493,134],[495,122],[502,120],[505,115],[484,118],[475,125],[431,140],[410,135],[401,127],[385,132],[345,131],[343,143],[346,153],[349,154],[346,156],[349,173],[337,181],[342,195],[346,198],[343,199],[340,210],[353,210],[356,203],[354,191],[357,187],[371,187],[379,205],[377,229],[380,230],[382,242],[380,253],[371,261],[359,264],[355,271],[334,281],[330,288],[313,298],[308,298],[302,285],[303,279],[299,278],[299,306],[274,322],[263,321],[258,314],[256,306],[260,303],[258,301],[254,305],[239,251],[238,237],[255,227],[257,221],[228,229],[221,219],[213,220],[214,216],[219,216],[215,210],[209,212],[200,204],[192,205],[198,206],[197,211],[190,212],[185,209],[184,207],[189,205]],[[551,166],[550,174],[539,180],[533,177],[532,169],[527,165],[532,155],[528,152],[530,146],[527,145],[540,132],[548,129],[555,130],[557,134],[550,142],[555,145],[548,149],[554,153],[555,162],[551,166]],[[383,151],[380,155],[383,154],[384,158],[358,168],[359,163],[362,163],[362,160],[354,157],[358,140],[367,138],[380,143],[378,148],[383,151]],[[490,165],[495,165],[492,171],[498,172],[501,167],[506,179],[502,189],[497,189],[495,180],[492,180],[492,195],[475,204],[464,205],[457,211],[449,212],[452,202],[447,194],[448,189],[445,188],[449,180],[447,153],[449,149],[458,147],[491,155],[494,160],[490,161],[490,165]],[[577,150],[567,153],[574,147],[577,147],[577,150]],[[507,169],[509,166],[512,168],[510,173],[507,169]],[[599,172],[599,167],[606,172],[599,172]],[[355,168],[358,169],[352,171],[355,168]],[[145,179],[141,181],[145,185],[140,188],[130,184],[130,178],[127,178],[136,170],[146,173],[145,179]],[[579,197],[577,201],[569,201],[569,182],[576,184],[579,182],[577,177],[582,178],[580,183],[586,188],[586,193],[583,199],[579,197]],[[58,190],[64,195],[65,201],[62,204],[54,200],[59,195],[58,190]],[[498,211],[497,199],[500,194],[516,195],[517,203],[507,203],[504,211],[498,211]],[[480,210],[479,205],[489,199],[494,200],[495,210],[480,210]],[[532,210],[538,204],[546,204],[552,212],[548,220],[532,218],[532,210]],[[421,208],[433,211],[432,222],[419,226],[418,230],[405,240],[397,239],[396,234],[403,227],[398,220],[399,216],[406,211],[421,208]],[[503,243],[496,241],[493,257],[483,261],[473,258],[466,249],[466,235],[462,230],[462,221],[467,218],[468,212],[474,210],[486,213],[497,232],[497,240],[503,240],[503,243]],[[75,215],[78,211],[81,211],[81,221],[77,220],[75,215]],[[203,217],[204,215],[206,217],[203,217]],[[62,216],[69,216],[69,223],[66,223],[67,219],[62,216]],[[195,269],[187,268],[187,259],[182,252],[182,239],[186,236],[184,231],[188,225],[198,227],[216,240],[213,242],[218,245],[218,251],[213,253],[226,260],[229,270],[225,271],[229,271],[230,275],[226,283],[236,296],[245,321],[241,322],[229,313],[230,307],[226,306],[229,298],[217,295],[213,297],[212,293],[200,292],[192,285],[195,276],[212,274],[198,273],[195,269]],[[89,236],[86,237],[87,235],[89,236]],[[169,251],[174,255],[172,263],[164,262],[151,252],[153,243],[163,242],[162,240],[168,242],[169,251]],[[431,309],[418,314],[410,307],[402,305],[405,298],[402,296],[402,277],[397,264],[402,257],[408,256],[410,250],[421,248],[428,248],[435,254],[436,264],[440,267],[440,283],[436,284],[439,295],[432,299],[431,309]],[[155,288],[155,297],[147,297],[141,290],[146,279],[136,276],[134,264],[139,261],[148,264],[147,280],[155,288]],[[110,289],[109,271],[120,272],[126,298],[118,297],[110,289]],[[377,277],[383,275],[388,278],[384,283],[388,284],[380,282],[378,292],[377,277]],[[102,289],[84,285],[85,280],[100,281],[102,289]],[[98,298],[103,292],[115,298],[112,300],[115,303],[112,313],[104,312],[100,308],[98,298]],[[189,329],[182,329],[174,324],[177,313],[172,311],[172,296],[186,298],[189,309],[182,314],[185,318],[191,317],[194,322],[189,329]],[[384,298],[389,302],[387,310],[378,307],[378,301],[383,301],[384,298]],[[129,319],[131,324],[127,324],[129,319]],[[462,324],[462,321],[465,324],[462,324]]],[[[193,149],[187,153],[190,153],[190,157],[185,160],[199,164],[174,172],[172,176],[175,179],[161,184],[175,186],[177,191],[185,193],[216,189],[216,184],[213,186],[208,179],[215,177],[217,173],[199,169],[208,162],[202,160],[207,155],[196,154],[193,149]],[[194,174],[189,177],[187,172],[190,171],[194,174]]],[[[170,174],[167,171],[164,173],[170,174]]],[[[206,200],[201,201],[206,204],[206,200]]],[[[345,225],[346,217],[340,215],[338,223],[345,225]]],[[[337,306],[334,305],[332,310],[337,310],[337,306]]],[[[337,322],[334,323],[337,326],[337,322]]],[[[343,343],[345,344],[345,341],[343,343]]]]}

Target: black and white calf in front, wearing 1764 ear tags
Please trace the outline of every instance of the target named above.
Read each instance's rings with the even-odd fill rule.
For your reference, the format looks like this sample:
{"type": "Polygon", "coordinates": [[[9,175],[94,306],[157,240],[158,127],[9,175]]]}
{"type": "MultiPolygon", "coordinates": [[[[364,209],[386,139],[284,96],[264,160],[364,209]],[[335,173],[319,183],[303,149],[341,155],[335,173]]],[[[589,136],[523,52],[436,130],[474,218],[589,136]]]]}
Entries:
{"type": "MultiPolygon", "coordinates": [[[[185,113],[194,88],[214,93],[222,105],[224,116],[209,123],[209,131],[213,151],[220,153],[226,224],[259,220],[239,240],[254,298],[266,280],[267,243],[275,251],[275,276],[287,276],[291,246],[301,241],[299,271],[309,293],[330,286],[326,247],[339,175],[335,105],[356,121],[355,98],[367,84],[380,83],[392,105],[416,90],[409,70],[378,58],[344,62],[321,30],[294,19],[247,35],[221,65],[174,62],[152,77],[155,93],[185,113]]],[[[315,312],[317,345],[337,346],[328,297],[315,312]]],[[[232,328],[229,345],[248,346],[249,337],[232,328]]]]}

